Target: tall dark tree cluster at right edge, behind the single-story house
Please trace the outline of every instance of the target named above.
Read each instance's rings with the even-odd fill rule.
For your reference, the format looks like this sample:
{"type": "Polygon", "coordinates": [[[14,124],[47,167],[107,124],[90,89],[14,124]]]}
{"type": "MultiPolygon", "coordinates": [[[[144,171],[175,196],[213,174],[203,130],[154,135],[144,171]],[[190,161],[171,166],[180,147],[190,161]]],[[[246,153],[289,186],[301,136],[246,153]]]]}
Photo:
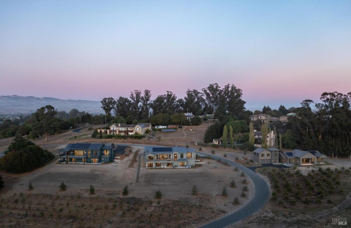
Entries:
{"type": "Polygon", "coordinates": [[[324,92],[320,100],[301,102],[297,117],[289,118],[291,135],[305,150],[351,157],[351,92],[324,92]]]}

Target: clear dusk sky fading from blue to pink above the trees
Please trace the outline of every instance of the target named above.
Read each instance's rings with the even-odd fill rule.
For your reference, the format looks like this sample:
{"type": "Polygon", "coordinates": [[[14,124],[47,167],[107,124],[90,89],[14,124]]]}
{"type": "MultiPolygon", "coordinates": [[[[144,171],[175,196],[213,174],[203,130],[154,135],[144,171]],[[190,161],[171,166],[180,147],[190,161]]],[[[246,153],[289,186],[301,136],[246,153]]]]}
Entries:
{"type": "Polygon", "coordinates": [[[0,0],[0,95],[234,84],[246,107],[351,92],[351,1],[0,0]]]}

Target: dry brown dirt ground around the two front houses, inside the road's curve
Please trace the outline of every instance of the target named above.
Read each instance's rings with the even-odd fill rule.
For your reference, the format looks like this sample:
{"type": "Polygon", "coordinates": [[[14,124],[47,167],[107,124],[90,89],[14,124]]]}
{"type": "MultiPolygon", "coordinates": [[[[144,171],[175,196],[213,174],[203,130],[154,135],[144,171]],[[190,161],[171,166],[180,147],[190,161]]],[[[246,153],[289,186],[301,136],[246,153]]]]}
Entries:
{"type": "MultiPolygon", "coordinates": [[[[94,126],[94,128],[97,127],[101,126],[94,126]]],[[[187,135],[187,138],[181,139],[183,140],[181,142],[179,142],[178,139],[161,139],[159,142],[151,142],[146,139],[118,140],[92,139],[90,137],[78,137],[77,139],[73,138],[74,136],[92,133],[92,131],[87,130],[87,128],[82,129],[82,132],[80,133],[67,131],[54,135],[47,142],[44,142],[42,139],[36,139],[33,141],[38,145],[42,145],[45,147],[45,149],[54,154],[57,154],[58,150],[65,147],[66,144],[75,142],[185,146],[187,144],[193,144],[193,142],[200,139],[202,140],[206,128],[207,125],[201,125],[197,126],[197,131],[192,130],[190,132],[190,129],[187,128],[180,130],[179,132],[180,134],[183,134],[183,137],[185,134],[187,135]],[[192,137],[188,138],[189,132],[192,137]]],[[[191,127],[191,129],[194,128],[191,127]]],[[[9,143],[11,143],[11,141],[0,145],[6,148],[9,143]]],[[[132,148],[133,152],[135,152],[137,149],[143,147],[132,148]]],[[[142,152],[143,151],[140,151],[140,153],[142,152]]],[[[130,213],[132,213],[132,217],[137,218],[137,220],[134,219],[135,221],[140,222],[133,223],[135,226],[133,225],[132,227],[141,226],[139,224],[142,224],[143,227],[148,227],[148,225],[145,224],[145,222],[148,221],[152,222],[150,224],[153,224],[153,227],[164,227],[165,221],[158,217],[160,211],[163,211],[167,214],[167,221],[168,218],[175,216],[173,214],[177,214],[177,216],[179,214],[179,216],[182,216],[182,218],[184,217],[184,219],[179,219],[179,221],[183,221],[183,223],[178,221],[172,223],[167,222],[166,225],[168,227],[180,227],[182,224],[184,225],[184,221],[186,221],[187,227],[197,227],[199,224],[204,224],[206,221],[210,221],[243,207],[247,202],[249,202],[254,194],[254,187],[251,184],[251,180],[245,177],[245,179],[248,181],[247,186],[249,191],[246,192],[247,198],[240,197],[244,187],[244,184],[241,183],[244,179],[243,177],[240,177],[241,172],[235,172],[233,171],[234,167],[225,166],[211,159],[203,159],[205,164],[197,168],[170,168],[154,170],[144,168],[145,161],[142,160],[139,182],[136,183],[138,162],[136,162],[132,168],[128,167],[132,158],[133,153],[127,157],[123,157],[123,160],[116,160],[114,163],[104,165],[58,164],[57,160],[55,160],[51,164],[29,173],[8,174],[2,172],[1,175],[3,175],[7,186],[1,191],[1,196],[4,198],[4,203],[1,203],[1,205],[2,208],[9,205],[8,210],[11,211],[11,213],[4,217],[3,221],[6,222],[3,224],[17,224],[17,226],[20,227],[25,226],[25,224],[32,224],[32,226],[34,226],[34,224],[38,223],[37,220],[45,217],[46,219],[52,221],[53,224],[58,224],[57,226],[53,227],[89,227],[87,226],[88,223],[81,221],[89,219],[85,218],[85,215],[79,216],[77,213],[75,213],[76,211],[81,211],[82,214],[90,214],[91,216],[95,213],[100,214],[105,212],[105,214],[108,216],[101,215],[101,219],[99,218],[99,220],[94,220],[96,224],[101,224],[102,227],[114,227],[115,225],[113,224],[115,224],[115,222],[119,227],[131,227],[126,223],[128,219],[131,220],[131,218],[128,217],[130,216],[130,213]],[[230,182],[232,179],[236,182],[236,188],[230,188],[230,182]],[[28,191],[29,181],[34,187],[32,191],[28,191]],[[11,184],[9,182],[11,182],[11,184]],[[64,182],[67,186],[67,190],[65,192],[59,191],[59,185],[61,182],[64,182]],[[90,185],[94,186],[95,188],[94,196],[89,194],[90,185]],[[191,195],[193,185],[196,185],[198,189],[198,195],[196,196],[191,195]],[[125,186],[128,186],[129,189],[128,196],[122,196],[122,189],[125,186]],[[221,196],[224,186],[226,186],[228,196],[221,196]],[[160,190],[163,194],[163,198],[160,200],[160,206],[157,203],[158,201],[154,199],[154,193],[158,190],[160,190]],[[15,196],[13,195],[14,193],[16,194],[15,196]],[[24,208],[23,205],[21,205],[21,208],[19,208],[16,203],[12,203],[16,198],[19,198],[20,193],[26,194],[25,198],[28,198],[26,202],[31,201],[30,204],[32,205],[32,209],[29,209],[26,203],[23,203],[24,208]],[[28,195],[29,193],[31,195],[28,195]],[[60,196],[60,200],[55,203],[55,210],[50,210],[50,208],[52,208],[51,204],[49,205],[49,203],[41,202],[42,197],[45,197],[42,196],[43,194],[48,194],[48,199],[52,198],[48,200],[50,202],[54,201],[53,199],[56,199],[56,195],[60,196]],[[65,197],[66,200],[61,202],[63,197],[65,197]],[[79,197],[79,199],[77,197],[79,197]],[[88,202],[92,201],[93,197],[102,202],[93,203],[92,206],[88,206],[88,202]],[[145,211],[145,209],[141,207],[138,207],[139,209],[124,207],[123,210],[114,210],[113,204],[115,202],[119,205],[120,197],[123,199],[126,197],[131,197],[134,199],[135,197],[137,200],[144,200],[144,203],[141,203],[141,205],[145,205],[147,210],[145,211]],[[239,198],[240,204],[234,206],[232,202],[236,197],[239,198]],[[67,198],[69,198],[69,200],[67,200],[67,198]],[[148,200],[153,201],[151,205],[148,204],[148,200]],[[67,206],[66,201],[72,203],[67,206]],[[85,205],[81,206],[82,203],[85,203],[85,205]],[[38,205],[39,210],[35,208],[34,211],[33,205],[38,205]],[[59,205],[64,207],[63,212],[58,211],[59,205]],[[171,205],[176,206],[173,208],[171,205]],[[183,215],[183,212],[177,210],[177,205],[179,208],[182,208],[183,212],[186,211],[187,213],[183,215]],[[105,207],[110,208],[111,213],[103,209],[105,207]],[[198,207],[201,208],[201,210],[198,210],[198,207]],[[66,209],[69,213],[66,212],[66,209]],[[26,211],[27,215],[25,214],[26,211]],[[123,211],[128,211],[128,213],[122,215],[123,211]],[[41,215],[40,213],[44,213],[44,215],[41,215]],[[73,213],[73,215],[71,216],[70,213],[73,213]],[[150,217],[150,214],[153,213],[154,215],[151,215],[150,217]],[[126,214],[128,214],[128,216],[126,214]],[[145,219],[144,216],[146,216],[147,219],[145,219]],[[155,222],[154,217],[159,218],[159,220],[162,221],[162,224],[155,222]],[[61,222],[62,218],[64,218],[64,222],[61,222]],[[106,221],[104,218],[106,218],[106,221]],[[71,220],[73,222],[67,222],[71,220]]],[[[19,200],[21,201],[22,198],[19,198],[19,200]]],[[[134,220],[133,222],[135,222],[134,220]]],[[[41,223],[39,222],[38,224],[41,223]]],[[[31,225],[28,225],[28,227],[31,227],[31,225]]],[[[38,225],[37,227],[40,226],[38,225]]],[[[95,226],[94,224],[91,227],[98,226],[95,226]]]]}

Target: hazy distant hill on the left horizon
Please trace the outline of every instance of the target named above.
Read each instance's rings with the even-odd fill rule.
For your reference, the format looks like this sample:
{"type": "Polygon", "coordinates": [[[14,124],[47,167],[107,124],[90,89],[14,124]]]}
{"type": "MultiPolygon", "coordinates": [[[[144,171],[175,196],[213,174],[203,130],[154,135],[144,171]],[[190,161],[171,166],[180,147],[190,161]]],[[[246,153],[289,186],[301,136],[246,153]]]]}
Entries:
{"type": "Polygon", "coordinates": [[[99,101],[61,100],[52,97],[40,98],[11,95],[0,96],[0,113],[31,113],[48,104],[54,106],[58,111],[68,112],[71,109],[76,108],[79,111],[85,111],[91,114],[103,112],[99,101]]]}

